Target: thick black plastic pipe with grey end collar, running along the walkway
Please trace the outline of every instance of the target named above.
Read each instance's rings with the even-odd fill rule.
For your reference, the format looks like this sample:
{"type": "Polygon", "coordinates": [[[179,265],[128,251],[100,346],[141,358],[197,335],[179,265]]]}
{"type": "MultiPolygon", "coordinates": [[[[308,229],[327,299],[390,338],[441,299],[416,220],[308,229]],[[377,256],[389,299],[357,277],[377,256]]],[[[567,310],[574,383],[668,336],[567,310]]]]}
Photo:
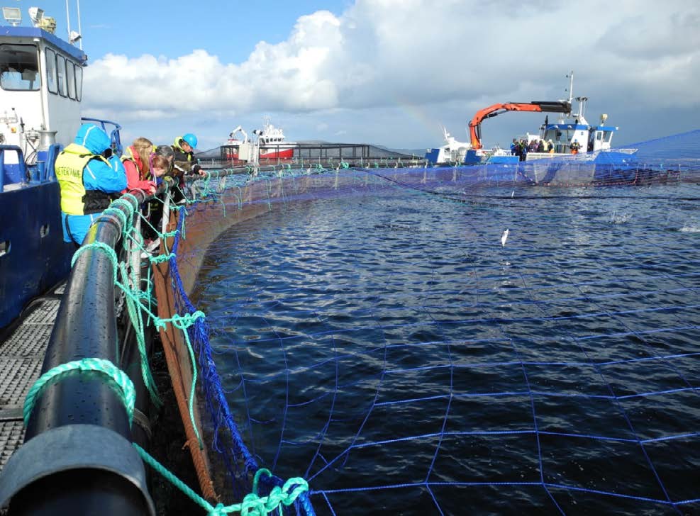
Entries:
{"type": "MultiPolygon", "coordinates": [[[[135,197],[139,204],[145,200],[142,192],[135,197]]],[[[124,206],[116,209],[128,213],[124,206]]],[[[83,243],[114,248],[121,232],[120,218],[103,214],[83,243]]],[[[110,257],[103,249],[86,249],[68,280],[42,374],[83,358],[121,366],[114,301],[110,257]]],[[[2,472],[0,505],[12,497],[13,515],[153,515],[143,462],[131,440],[126,407],[109,378],[84,371],[59,376],[36,398],[25,444],[2,472]]]]}

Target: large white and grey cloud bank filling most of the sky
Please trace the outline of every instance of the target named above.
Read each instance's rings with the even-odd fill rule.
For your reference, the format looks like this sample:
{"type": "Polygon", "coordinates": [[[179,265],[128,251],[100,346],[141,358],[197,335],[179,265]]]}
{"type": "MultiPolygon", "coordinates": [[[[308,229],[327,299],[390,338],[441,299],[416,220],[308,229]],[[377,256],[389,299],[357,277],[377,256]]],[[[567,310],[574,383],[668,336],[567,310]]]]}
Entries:
{"type": "MultiPolygon", "coordinates": [[[[334,109],[352,116],[457,103],[466,120],[496,101],[561,98],[564,74],[574,69],[574,93],[611,117],[640,106],[697,113],[700,4],[656,7],[635,0],[357,0],[340,16],[301,16],[287,40],[260,41],[245,62],[222,62],[206,50],[177,59],[106,55],[86,69],[85,104],[91,114],[136,122],[327,116],[334,109]]],[[[316,127],[330,125],[317,120],[316,127]]],[[[416,136],[415,127],[406,131],[416,136]]]]}

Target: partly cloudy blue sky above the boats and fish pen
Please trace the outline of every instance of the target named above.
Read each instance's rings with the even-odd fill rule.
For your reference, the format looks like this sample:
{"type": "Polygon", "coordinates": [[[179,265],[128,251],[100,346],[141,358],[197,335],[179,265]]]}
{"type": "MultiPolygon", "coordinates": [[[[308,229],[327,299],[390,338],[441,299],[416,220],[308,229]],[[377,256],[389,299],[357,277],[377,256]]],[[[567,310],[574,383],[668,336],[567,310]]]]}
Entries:
{"type": "MultiPolygon", "coordinates": [[[[75,0],[69,0],[77,29],[75,0]]],[[[65,1],[41,6],[65,37],[65,1]]],[[[697,0],[83,0],[84,116],[122,140],[221,145],[263,118],[287,140],[443,145],[444,126],[499,102],[589,98],[586,116],[623,146],[700,128],[697,0]]],[[[551,117],[550,117],[551,118],[551,117]]],[[[482,123],[490,147],[536,133],[544,116],[482,123]]]]}

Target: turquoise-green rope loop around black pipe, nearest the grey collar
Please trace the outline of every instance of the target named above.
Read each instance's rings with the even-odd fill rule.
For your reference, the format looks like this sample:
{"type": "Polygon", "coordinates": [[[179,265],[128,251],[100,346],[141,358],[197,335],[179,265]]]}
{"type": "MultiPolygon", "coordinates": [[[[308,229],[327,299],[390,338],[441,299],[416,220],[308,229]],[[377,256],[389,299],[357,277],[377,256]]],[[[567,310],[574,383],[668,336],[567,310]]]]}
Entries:
{"type": "Polygon", "coordinates": [[[129,417],[129,425],[133,420],[133,408],[136,400],[136,391],[134,389],[133,383],[130,378],[126,375],[124,371],[119,369],[117,366],[111,363],[109,360],[105,359],[81,359],[67,362],[66,364],[60,364],[55,366],[53,369],[46,371],[43,375],[39,377],[34,385],[29,389],[27,397],[24,400],[24,425],[28,425],[29,416],[34,409],[34,404],[36,403],[36,398],[39,393],[43,390],[47,383],[52,381],[57,376],[66,374],[69,371],[96,371],[102,374],[106,374],[113,380],[109,382],[109,386],[112,388],[116,387],[116,392],[120,396],[121,400],[126,407],[126,414],[129,417]]]}

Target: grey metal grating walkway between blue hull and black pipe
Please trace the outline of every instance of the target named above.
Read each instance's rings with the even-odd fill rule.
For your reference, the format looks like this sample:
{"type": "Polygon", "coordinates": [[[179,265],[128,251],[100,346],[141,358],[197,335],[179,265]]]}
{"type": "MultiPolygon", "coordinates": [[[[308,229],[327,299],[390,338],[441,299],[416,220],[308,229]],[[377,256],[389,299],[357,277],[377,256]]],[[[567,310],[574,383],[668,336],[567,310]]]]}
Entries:
{"type": "Polygon", "coordinates": [[[24,398],[41,372],[63,288],[35,299],[0,335],[0,471],[24,442],[24,398]]]}

